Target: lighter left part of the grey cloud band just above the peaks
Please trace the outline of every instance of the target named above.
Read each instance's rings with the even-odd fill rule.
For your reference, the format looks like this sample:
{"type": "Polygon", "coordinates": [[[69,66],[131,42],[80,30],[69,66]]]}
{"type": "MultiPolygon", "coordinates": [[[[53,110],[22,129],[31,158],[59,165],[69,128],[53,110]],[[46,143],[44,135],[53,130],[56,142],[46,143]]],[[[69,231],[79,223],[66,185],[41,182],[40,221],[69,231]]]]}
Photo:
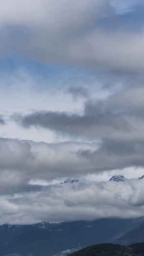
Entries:
{"type": "Polygon", "coordinates": [[[97,147],[95,143],[48,144],[0,139],[0,194],[36,190],[37,187],[28,185],[32,180],[49,182],[68,176],[84,176],[89,172],[89,162],[78,158],[76,152],[97,147]]]}

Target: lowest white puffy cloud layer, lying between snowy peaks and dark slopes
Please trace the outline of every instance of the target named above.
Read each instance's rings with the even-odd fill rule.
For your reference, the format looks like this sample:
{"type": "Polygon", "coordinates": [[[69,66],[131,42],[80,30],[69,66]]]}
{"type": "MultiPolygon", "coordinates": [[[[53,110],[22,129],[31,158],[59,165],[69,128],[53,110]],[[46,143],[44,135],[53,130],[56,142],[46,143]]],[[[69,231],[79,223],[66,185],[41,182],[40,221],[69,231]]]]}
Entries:
{"type": "Polygon", "coordinates": [[[43,192],[0,197],[0,223],[134,218],[144,215],[144,181],[55,184],[43,192]]]}

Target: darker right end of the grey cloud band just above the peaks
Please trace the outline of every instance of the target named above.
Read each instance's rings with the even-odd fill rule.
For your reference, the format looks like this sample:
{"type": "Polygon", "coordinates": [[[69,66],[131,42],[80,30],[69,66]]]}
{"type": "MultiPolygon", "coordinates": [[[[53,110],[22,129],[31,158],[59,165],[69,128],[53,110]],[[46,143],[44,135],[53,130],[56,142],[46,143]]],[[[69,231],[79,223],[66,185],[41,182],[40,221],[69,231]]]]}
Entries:
{"type": "Polygon", "coordinates": [[[96,151],[78,150],[81,159],[93,163],[97,171],[122,170],[127,167],[144,167],[144,140],[104,139],[96,151]]]}

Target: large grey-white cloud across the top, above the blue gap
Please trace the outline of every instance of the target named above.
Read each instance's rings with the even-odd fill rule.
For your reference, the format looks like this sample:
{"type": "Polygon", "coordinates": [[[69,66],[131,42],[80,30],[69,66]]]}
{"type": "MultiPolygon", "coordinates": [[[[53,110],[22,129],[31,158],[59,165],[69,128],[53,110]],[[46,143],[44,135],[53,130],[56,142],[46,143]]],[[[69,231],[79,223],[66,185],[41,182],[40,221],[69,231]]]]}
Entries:
{"type": "Polygon", "coordinates": [[[120,17],[108,0],[0,1],[2,55],[86,68],[144,71],[144,29],[108,29],[102,19],[120,17]]]}

